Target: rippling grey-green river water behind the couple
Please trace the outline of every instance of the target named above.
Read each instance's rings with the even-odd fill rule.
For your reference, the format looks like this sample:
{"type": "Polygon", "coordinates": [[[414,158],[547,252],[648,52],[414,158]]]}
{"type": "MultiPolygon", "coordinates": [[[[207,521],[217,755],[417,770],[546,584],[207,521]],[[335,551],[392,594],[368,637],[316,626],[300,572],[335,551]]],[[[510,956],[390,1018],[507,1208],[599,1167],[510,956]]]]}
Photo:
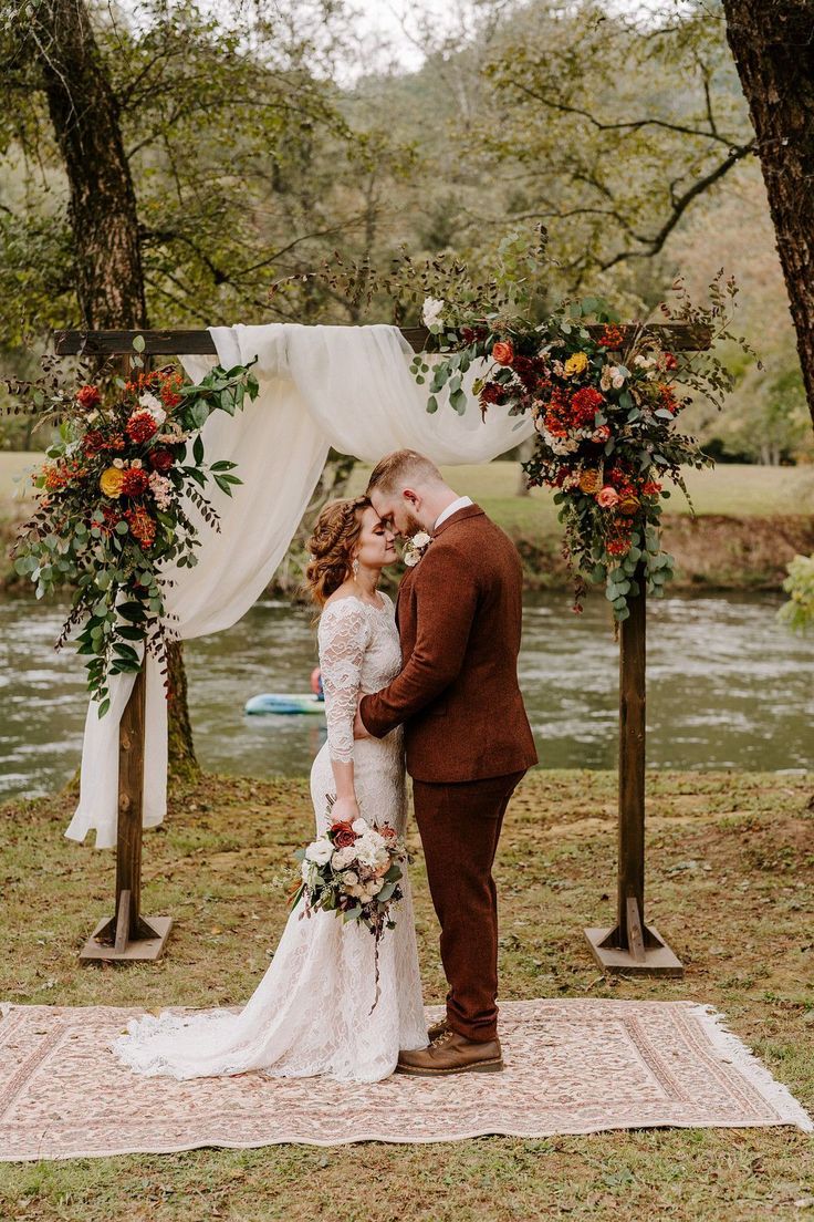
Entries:
{"type": "MultiPolygon", "coordinates": [[[[652,600],[648,607],[648,766],[810,769],[814,637],[775,621],[780,596],[652,600]]],[[[0,600],[0,797],[34,797],[79,761],[84,671],[54,651],[61,609],[0,600]]],[[[249,717],[259,692],[308,692],[316,661],[311,613],[261,601],[233,628],[185,645],[195,747],[205,769],[308,772],[323,717],[249,717]]],[[[528,595],[520,681],[543,767],[614,767],[619,649],[609,610],[566,594],[528,595]]]]}

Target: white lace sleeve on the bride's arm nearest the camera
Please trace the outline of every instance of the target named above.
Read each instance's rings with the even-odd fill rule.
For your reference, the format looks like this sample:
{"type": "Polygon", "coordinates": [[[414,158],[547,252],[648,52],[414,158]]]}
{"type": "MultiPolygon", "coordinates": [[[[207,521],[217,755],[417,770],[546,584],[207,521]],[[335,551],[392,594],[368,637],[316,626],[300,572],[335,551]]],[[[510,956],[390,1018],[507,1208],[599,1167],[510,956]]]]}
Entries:
{"type": "Polygon", "coordinates": [[[332,760],[353,760],[353,726],[361,682],[361,664],[370,640],[370,623],[355,599],[339,599],[322,612],[319,628],[325,720],[332,760]]]}

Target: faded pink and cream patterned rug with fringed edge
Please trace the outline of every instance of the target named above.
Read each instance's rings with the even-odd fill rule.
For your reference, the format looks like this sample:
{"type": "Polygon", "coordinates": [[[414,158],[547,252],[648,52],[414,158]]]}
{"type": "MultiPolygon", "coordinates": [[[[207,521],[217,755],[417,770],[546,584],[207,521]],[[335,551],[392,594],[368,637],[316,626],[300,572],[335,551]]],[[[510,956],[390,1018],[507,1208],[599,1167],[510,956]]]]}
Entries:
{"type": "Polygon", "coordinates": [[[360,1086],[259,1072],[183,1083],[140,1078],[107,1050],[139,1011],[0,1011],[2,1161],[654,1125],[814,1128],[721,1015],[693,1002],[505,1002],[503,1073],[397,1074],[360,1086]]]}

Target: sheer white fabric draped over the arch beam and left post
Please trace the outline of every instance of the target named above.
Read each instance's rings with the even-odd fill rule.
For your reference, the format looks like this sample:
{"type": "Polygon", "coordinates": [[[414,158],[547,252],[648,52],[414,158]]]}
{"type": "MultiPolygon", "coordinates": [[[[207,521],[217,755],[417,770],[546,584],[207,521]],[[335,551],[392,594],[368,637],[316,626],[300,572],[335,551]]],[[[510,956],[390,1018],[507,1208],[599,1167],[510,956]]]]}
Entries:
{"type": "MultiPolygon", "coordinates": [[[[236,623],[260,596],[284,557],[320,478],[328,448],[377,462],[392,450],[419,450],[438,463],[487,462],[530,436],[532,422],[491,407],[486,420],[469,395],[464,415],[443,402],[430,415],[427,390],[410,373],[412,349],[394,326],[210,327],[225,368],[255,356],[258,398],[234,417],[216,412],[203,429],[207,462],[228,458],[243,480],[227,497],[207,496],[220,533],[201,524],[198,565],[166,577],[171,626],[182,639],[236,623]]],[[[182,357],[193,379],[214,357],[182,357]]],[[[465,389],[477,370],[471,369],[465,389]]],[[[190,517],[196,517],[190,513],[190,517]]],[[[167,706],[159,666],[148,656],[144,741],[144,826],[166,813],[167,706]]],[[[133,676],[113,676],[104,717],[90,703],[82,750],[79,805],[66,836],[96,832],[96,848],[116,843],[118,725],[133,676]]]]}

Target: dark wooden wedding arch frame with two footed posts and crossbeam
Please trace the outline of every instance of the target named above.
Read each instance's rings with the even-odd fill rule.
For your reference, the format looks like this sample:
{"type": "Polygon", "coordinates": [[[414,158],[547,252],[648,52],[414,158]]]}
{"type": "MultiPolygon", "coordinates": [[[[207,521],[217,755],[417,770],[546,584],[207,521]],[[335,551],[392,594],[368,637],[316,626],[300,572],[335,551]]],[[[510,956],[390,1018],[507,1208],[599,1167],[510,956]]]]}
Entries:
{"type": "MultiPolygon", "coordinates": [[[[600,326],[588,325],[599,334],[600,326]]],[[[631,332],[633,325],[622,326],[631,332]]],[[[710,345],[709,332],[671,323],[650,329],[674,351],[697,352],[710,345]]],[[[423,351],[426,327],[402,327],[415,352],[423,351]]],[[[133,354],[133,340],[144,340],[144,357],[217,356],[209,331],[56,331],[57,356],[121,357],[133,354]]],[[[630,617],[620,624],[619,648],[619,864],[616,924],[610,929],[586,929],[585,936],[597,963],[610,974],[682,976],[681,962],[655,926],[644,920],[644,774],[646,774],[646,640],[647,596],[643,573],[637,573],[641,593],[629,599],[630,617]]],[[[170,930],[171,916],[144,918],[142,893],[142,816],[144,792],[144,671],[135,676],[118,733],[118,825],[116,844],[116,899],[112,916],[103,918],[79,958],[143,962],[157,959],[170,930]]]]}

